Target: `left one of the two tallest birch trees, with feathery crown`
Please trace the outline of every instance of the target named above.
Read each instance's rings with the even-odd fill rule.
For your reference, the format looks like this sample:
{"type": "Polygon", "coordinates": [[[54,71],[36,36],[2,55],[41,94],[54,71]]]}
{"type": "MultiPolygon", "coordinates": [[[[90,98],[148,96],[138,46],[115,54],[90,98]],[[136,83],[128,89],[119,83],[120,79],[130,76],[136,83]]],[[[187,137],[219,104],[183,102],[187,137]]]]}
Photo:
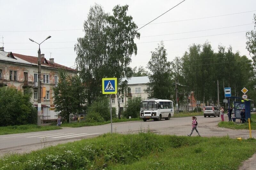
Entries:
{"type": "Polygon", "coordinates": [[[86,85],[89,105],[102,95],[101,79],[106,77],[107,70],[102,68],[107,58],[107,17],[100,5],[91,6],[84,21],[84,37],[78,38],[75,45],[77,69],[86,85]]]}

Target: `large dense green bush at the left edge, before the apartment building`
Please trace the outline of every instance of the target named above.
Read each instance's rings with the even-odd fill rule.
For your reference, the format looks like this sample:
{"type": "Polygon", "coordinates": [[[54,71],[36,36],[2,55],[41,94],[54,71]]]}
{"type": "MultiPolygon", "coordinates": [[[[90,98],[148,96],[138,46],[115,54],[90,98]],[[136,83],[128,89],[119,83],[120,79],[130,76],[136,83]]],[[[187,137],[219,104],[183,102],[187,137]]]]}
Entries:
{"type": "Polygon", "coordinates": [[[32,92],[0,87],[0,126],[36,123],[37,111],[30,101],[32,92]]]}

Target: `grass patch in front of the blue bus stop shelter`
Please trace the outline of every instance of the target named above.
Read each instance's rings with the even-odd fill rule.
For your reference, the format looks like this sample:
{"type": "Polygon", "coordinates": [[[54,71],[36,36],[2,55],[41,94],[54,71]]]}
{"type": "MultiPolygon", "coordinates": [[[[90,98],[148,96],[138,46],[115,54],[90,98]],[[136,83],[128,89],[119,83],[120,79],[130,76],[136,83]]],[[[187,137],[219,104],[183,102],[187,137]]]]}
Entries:
{"type": "MultiPolygon", "coordinates": [[[[239,121],[239,120],[236,120],[239,121]]],[[[240,122],[240,121],[239,121],[240,122]]],[[[249,123],[219,122],[219,127],[229,129],[249,129],[249,123]]],[[[251,114],[251,129],[256,130],[256,114],[251,114]]]]}

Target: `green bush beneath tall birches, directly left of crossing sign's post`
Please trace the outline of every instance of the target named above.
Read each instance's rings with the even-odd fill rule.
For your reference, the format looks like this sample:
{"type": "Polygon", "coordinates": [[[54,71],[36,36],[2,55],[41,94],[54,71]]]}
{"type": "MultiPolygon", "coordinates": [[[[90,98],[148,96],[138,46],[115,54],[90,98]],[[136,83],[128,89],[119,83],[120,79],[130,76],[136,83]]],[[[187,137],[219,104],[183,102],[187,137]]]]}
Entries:
{"type": "MultiPolygon", "coordinates": [[[[91,106],[87,108],[87,114],[99,114],[105,121],[110,120],[110,108],[108,96],[102,96],[95,100],[91,106]]],[[[116,118],[116,111],[112,110],[112,118],[116,118]]]]}

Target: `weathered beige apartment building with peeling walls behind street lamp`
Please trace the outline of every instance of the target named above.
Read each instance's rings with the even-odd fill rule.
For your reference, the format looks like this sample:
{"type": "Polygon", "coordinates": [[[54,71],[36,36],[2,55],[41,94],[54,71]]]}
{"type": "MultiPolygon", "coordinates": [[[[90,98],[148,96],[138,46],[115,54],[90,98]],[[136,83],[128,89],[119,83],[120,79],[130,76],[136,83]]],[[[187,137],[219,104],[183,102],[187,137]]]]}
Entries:
{"type": "MultiPolygon", "coordinates": [[[[37,107],[38,92],[38,57],[4,52],[0,48],[0,87],[15,86],[18,90],[31,88],[33,95],[31,102],[37,107]]],[[[71,75],[77,71],[54,62],[53,58],[47,60],[41,55],[41,81],[42,87],[46,88],[45,97],[42,98],[42,119],[56,119],[52,87],[58,85],[58,70],[64,69],[71,75]]]]}

